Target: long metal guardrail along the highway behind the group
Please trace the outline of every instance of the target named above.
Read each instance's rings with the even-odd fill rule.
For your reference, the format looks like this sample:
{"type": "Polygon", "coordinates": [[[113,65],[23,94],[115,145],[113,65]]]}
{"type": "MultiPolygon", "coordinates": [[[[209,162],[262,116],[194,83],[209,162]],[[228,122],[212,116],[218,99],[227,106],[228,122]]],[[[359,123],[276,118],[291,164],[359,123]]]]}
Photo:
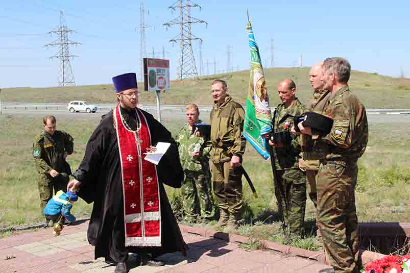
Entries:
{"type": "MultiPolygon", "coordinates": [[[[97,106],[97,111],[109,111],[114,108],[115,104],[92,104],[97,106]]],[[[142,110],[150,111],[156,110],[157,106],[154,104],[143,104],[139,106],[142,110]]],[[[163,111],[185,111],[185,105],[161,105],[163,111]]],[[[200,111],[210,112],[213,106],[199,106],[200,111]]],[[[2,109],[4,110],[54,110],[54,111],[68,111],[67,104],[49,103],[49,104],[37,104],[37,103],[2,103],[2,109]]],[[[275,107],[271,107],[271,110],[275,110],[275,107]]],[[[410,115],[410,109],[366,109],[368,114],[408,114],[410,115]]]]}

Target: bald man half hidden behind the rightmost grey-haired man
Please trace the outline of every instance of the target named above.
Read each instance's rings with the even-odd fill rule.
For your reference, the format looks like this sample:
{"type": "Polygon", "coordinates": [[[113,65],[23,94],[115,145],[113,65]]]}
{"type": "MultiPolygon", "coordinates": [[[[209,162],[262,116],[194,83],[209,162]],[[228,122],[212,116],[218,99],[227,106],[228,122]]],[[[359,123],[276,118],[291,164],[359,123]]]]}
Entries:
{"type": "MultiPolygon", "coordinates": [[[[316,63],[310,68],[310,84],[313,88],[313,97],[310,100],[308,111],[323,114],[326,103],[329,99],[330,91],[323,89],[322,82],[323,62],[316,63]]],[[[302,158],[299,159],[299,167],[305,171],[307,179],[307,192],[309,198],[317,207],[318,194],[316,190],[316,176],[319,170],[319,154],[313,152],[313,141],[319,136],[301,135],[300,144],[302,148],[302,158]]]]}

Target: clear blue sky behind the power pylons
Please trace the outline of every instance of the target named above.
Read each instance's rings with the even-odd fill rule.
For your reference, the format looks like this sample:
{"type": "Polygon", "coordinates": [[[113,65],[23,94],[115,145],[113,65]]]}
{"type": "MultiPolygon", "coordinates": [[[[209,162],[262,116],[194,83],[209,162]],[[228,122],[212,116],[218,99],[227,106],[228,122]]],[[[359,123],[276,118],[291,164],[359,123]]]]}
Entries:
{"type": "MultiPolygon", "coordinates": [[[[166,30],[162,24],[178,16],[168,6],[175,1],[144,1],[150,14],[147,51],[171,60],[171,77],[179,57],[179,45],[168,42],[179,27],[166,30]]],[[[71,65],[77,85],[110,83],[111,77],[129,71],[139,73],[138,1],[117,0],[14,0],[2,3],[0,13],[0,87],[57,85],[58,61],[49,57],[57,48],[45,48],[56,37],[46,35],[59,24],[65,12],[69,36],[81,45],[70,48],[80,56],[71,65]],[[136,31],[135,31],[136,30],[136,31]]],[[[326,57],[345,57],[352,69],[398,77],[401,67],[410,76],[410,2],[408,1],[195,1],[203,8],[191,15],[208,22],[192,27],[204,39],[204,73],[227,69],[227,46],[231,46],[234,70],[249,68],[246,8],[249,9],[256,41],[265,67],[270,67],[270,40],[274,39],[274,66],[303,66],[326,57]]],[[[198,50],[198,43],[194,43],[198,50]]],[[[197,66],[199,59],[197,55],[197,66]]],[[[199,68],[198,68],[199,69],[199,68]]],[[[269,79],[268,79],[269,80],[269,79]]],[[[172,88],[172,87],[171,87],[172,88]]]]}

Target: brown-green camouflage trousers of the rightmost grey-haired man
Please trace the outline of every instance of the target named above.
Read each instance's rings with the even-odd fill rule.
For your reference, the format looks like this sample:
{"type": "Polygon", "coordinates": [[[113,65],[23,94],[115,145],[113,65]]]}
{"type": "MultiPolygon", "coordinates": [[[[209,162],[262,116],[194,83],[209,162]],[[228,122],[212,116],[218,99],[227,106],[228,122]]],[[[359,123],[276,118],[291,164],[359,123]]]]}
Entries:
{"type": "Polygon", "coordinates": [[[358,272],[359,237],[354,188],[356,162],[321,162],[318,172],[318,227],[335,272],[358,272]]]}

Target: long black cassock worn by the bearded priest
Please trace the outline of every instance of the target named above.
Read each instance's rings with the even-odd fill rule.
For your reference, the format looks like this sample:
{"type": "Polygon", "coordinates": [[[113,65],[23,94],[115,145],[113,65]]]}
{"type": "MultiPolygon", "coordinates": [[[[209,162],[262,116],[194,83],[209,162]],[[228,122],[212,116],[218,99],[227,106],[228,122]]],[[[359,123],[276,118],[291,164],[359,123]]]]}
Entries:
{"type": "MultiPolygon", "coordinates": [[[[134,111],[120,107],[131,129],[136,129],[134,111]]],[[[112,111],[104,115],[88,140],[85,156],[73,176],[81,181],[78,195],[88,204],[94,202],[88,227],[88,241],[95,246],[95,259],[110,257],[115,262],[124,262],[128,252],[152,253],[159,256],[180,251],[185,253],[185,244],[178,222],[166,196],[163,183],[179,188],[184,174],[179,161],[178,148],[171,133],[154,117],[142,111],[151,133],[151,145],[171,142],[170,148],[157,165],[161,211],[161,246],[125,247],[124,196],[121,164],[112,111]]]]}

